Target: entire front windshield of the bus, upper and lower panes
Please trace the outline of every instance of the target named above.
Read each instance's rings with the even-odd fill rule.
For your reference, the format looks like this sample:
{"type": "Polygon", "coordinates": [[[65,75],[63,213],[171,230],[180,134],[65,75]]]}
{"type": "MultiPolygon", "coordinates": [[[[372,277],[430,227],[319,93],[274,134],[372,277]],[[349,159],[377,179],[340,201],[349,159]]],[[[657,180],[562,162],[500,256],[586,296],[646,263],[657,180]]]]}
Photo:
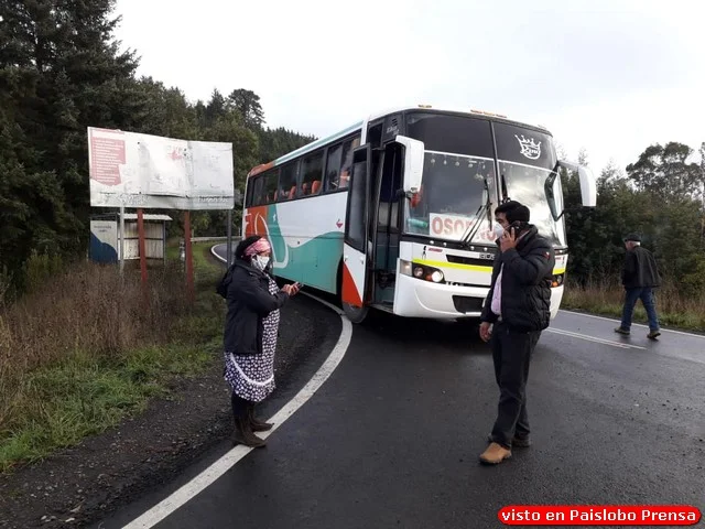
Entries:
{"type": "MultiPolygon", "coordinates": [[[[406,132],[423,141],[426,149],[421,192],[406,202],[406,233],[446,240],[462,240],[475,233],[468,242],[495,244],[494,218],[488,219],[488,212],[494,214],[499,195],[502,201],[527,205],[539,233],[555,246],[566,245],[563,218],[553,219],[545,191],[546,179],[556,170],[555,145],[547,131],[414,111],[406,117],[406,132]],[[497,180],[496,166],[500,172],[497,180]],[[496,182],[501,193],[496,193],[496,182]],[[481,224],[476,226],[478,212],[481,224]]],[[[560,179],[555,179],[553,192],[561,212],[560,179]]]]}

